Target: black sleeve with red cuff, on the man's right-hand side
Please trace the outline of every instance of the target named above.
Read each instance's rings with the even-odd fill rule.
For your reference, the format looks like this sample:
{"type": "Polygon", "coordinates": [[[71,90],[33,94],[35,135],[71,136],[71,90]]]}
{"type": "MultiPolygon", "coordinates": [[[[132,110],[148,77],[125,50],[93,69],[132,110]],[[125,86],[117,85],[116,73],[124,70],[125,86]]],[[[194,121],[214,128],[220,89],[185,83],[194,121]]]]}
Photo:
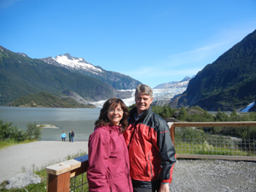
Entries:
{"type": "Polygon", "coordinates": [[[162,119],[158,130],[160,179],[163,183],[172,183],[172,171],[176,162],[175,148],[172,144],[169,126],[162,119]]]}

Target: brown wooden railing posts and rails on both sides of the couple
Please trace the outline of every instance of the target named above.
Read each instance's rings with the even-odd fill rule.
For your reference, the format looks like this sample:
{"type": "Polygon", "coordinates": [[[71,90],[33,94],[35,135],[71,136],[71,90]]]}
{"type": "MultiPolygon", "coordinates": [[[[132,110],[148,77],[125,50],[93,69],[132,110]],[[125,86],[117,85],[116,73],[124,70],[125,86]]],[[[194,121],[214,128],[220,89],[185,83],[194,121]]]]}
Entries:
{"type": "MultiPolygon", "coordinates": [[[[256,121],[239,121],[239,122],[174,122],[170,126],[170,135],[172,143],[175,145],[175,128],[176,127],[244,127],[256,126],[256,121]]],[[[220,159],[220,160],[253,160],[255,156],[224,156],[224,155],[195,155],[195,154],[177,154],[177,158],[189,159],[220,159]]],[[[88,155],[67,160],[52,166],[46,167],[47,191],[49,192],[69,192],[70,179],[76,177],[88,168],[88,155]]]]}

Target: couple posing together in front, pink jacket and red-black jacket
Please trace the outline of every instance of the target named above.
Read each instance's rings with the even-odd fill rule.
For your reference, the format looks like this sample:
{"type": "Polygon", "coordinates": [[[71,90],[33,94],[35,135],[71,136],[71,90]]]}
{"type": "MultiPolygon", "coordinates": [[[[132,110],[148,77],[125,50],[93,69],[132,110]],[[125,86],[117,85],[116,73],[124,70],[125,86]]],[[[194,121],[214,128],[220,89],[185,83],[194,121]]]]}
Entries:
{"type": "Polygon", "coordinates": [[[104,103],[89,139],[90,191],[169,191],[175,149],[166,121],[151,109],[152,95],[139,84],[130,117],[122,100],[104,103]]]}

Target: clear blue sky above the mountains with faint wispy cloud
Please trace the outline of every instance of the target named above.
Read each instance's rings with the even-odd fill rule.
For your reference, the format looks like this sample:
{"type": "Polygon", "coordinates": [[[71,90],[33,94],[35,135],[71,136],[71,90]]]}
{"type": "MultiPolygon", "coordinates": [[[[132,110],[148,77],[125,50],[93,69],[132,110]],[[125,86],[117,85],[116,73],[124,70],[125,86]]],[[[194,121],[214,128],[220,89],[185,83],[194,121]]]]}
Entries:
{"type": "Polygon", "coordinates": [[[256,29],[255,0],[0,0],[0,45],[69,53],[154,88],[191,77],[256,29]]]}

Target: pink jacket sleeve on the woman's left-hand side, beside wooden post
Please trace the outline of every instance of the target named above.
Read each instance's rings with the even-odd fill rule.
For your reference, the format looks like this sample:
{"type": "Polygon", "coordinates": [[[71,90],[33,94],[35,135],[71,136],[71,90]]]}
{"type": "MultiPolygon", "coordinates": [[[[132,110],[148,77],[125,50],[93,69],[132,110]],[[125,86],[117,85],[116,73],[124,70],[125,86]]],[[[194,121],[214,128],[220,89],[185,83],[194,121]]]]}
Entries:
{"type": "Polygon", "coordinates": [[[105,132],[95,132],[89,140],[87,179],[90,191],[109,191],[107,182],[109,139],[105,132]]]}

